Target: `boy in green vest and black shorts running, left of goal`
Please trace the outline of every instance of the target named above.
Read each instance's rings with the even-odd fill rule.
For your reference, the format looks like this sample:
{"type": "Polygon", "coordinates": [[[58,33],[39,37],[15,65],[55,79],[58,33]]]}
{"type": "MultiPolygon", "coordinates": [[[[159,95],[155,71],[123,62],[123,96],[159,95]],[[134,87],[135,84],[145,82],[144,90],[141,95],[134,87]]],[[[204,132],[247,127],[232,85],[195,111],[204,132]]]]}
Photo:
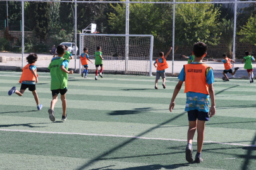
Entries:
{"type": "Polygon", "coordinates": [[[65,121],[66,115],[66,92],[68,91],[68,74],[73,74],[73,71],[68,71],[68,60],[63,58],[65,52],[64,45],[58,45],[58,57],[54,57],[49,64],[48,69],[51,72],[51,91],[52,101],[51,108],[48,110],[49,118],[52,122],[55,121],[54,106],[58,101],[58,94],[61,93],[61,101],[63,115],[61,120],[65,121]]]}

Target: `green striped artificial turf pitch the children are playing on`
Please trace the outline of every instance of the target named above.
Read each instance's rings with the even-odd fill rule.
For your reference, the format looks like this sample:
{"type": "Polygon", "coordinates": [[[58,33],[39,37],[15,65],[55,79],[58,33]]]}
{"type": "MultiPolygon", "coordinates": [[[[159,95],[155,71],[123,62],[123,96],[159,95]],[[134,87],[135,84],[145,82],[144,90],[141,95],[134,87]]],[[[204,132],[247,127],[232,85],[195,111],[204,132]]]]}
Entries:
{"type": "MultiPolygon", "coordinates": [[[[185,159],[186,96],[184,85],[174,111],[169,103],[177,77],[166,89],[155,76],[103,74],[94,80],[69,75],[67,120],[61,121],[59,96],[49,120],[50,75],[39,72],[37,111],[28,89],[23,96],[8,91],[21,72],[0,72],[0,169],[256,169],[255,84],[215,79],[216,115],[205,125],[204,162],[185,159]]],[[[193,142],[197,150],[197,135],[193,142]]]]}

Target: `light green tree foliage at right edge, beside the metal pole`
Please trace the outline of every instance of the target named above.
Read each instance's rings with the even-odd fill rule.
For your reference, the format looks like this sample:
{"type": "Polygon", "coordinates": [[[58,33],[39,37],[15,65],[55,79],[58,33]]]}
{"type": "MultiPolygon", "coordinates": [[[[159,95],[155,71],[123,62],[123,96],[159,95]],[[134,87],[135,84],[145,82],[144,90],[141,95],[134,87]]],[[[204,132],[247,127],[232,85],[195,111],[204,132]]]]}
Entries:
{"type": "Polygon", "coordinates": [[[240,42],[248,42],[252,45],[256,45],[256,15],[251,15],[248,18],[246,25],[241,27],[241,30],[238,32],[238,35],[242,35],[240,42]]]}

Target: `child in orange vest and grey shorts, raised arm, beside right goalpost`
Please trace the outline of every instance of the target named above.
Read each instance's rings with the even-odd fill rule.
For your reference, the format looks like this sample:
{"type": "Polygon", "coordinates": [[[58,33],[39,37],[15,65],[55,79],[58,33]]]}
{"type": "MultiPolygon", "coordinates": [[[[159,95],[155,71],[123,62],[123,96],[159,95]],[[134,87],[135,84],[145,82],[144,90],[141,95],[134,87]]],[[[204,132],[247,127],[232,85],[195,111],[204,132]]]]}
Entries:
{"type": "Polygon", "coordinates": [[[169,52],[164,56],[164,52],[159,53],[159,58],[155,60],[154,66],[157,68],[157,72],[155,74],[155,89],[157,88],[157,82],[160,79],[160,76],[162,77],[162,87],[166,88],[166,71],[165,69],[168,68],[168,63],[166,62],[166,57],[170,54],[173,47],[170,48],[169,52]],[[157,65],[155,65],[157,64],[157,65]]]}

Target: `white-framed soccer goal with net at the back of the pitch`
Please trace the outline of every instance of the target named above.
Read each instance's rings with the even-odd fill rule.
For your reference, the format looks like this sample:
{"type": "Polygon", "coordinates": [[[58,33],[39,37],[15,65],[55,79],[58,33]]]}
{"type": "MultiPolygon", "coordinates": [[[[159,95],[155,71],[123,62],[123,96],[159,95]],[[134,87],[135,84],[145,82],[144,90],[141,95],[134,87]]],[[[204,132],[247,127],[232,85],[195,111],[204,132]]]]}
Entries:
{"type": "MultiPolygon", "coordinates": [[[[88,72],[95,71],[94,53],[101,46],[103,72],[152,75],[153,35],[80,33],[79,52],[88,48],[88,72]]],[[[81,64],[79,67],[81,72],[81,64]]]]}

